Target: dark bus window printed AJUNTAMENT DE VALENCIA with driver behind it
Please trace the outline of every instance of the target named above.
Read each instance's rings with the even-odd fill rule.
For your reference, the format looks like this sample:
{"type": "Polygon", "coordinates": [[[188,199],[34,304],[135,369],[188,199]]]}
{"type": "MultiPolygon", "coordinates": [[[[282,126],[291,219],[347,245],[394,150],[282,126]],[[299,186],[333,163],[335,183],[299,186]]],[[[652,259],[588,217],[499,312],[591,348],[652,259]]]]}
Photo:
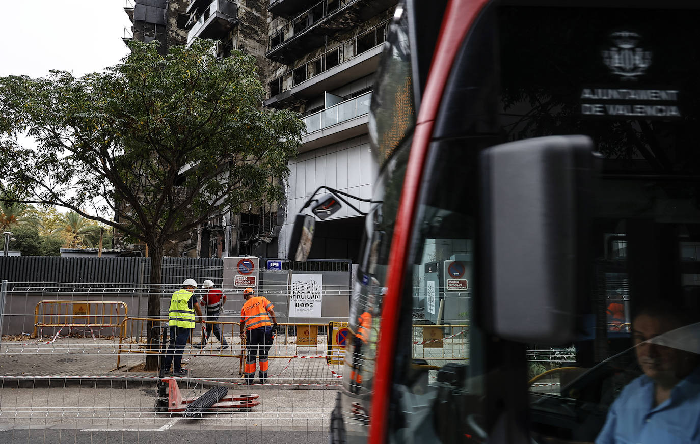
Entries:
{"type": "Polygon", "coordinates": [[[700,58],[688,42],[700,39],[700,13],[500,6],[497,15],[503,138],[584,134],[602,156],[578,338],[528,346],[531,434],[693,442],[700,58]]]}

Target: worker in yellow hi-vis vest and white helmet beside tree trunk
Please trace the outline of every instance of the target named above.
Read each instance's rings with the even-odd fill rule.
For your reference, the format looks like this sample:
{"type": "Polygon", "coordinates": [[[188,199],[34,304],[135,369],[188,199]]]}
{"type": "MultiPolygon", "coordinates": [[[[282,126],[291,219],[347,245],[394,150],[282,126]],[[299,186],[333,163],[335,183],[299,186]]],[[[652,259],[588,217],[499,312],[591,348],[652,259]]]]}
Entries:
{"type": "Polygon", "coordinates": [[[168,324],[170,326],[170,345],[163,357],[162,369],[166,374],[170,373],[170,364],[175,359],[173,366],[174,376],[187,375],[188,369],[182,368],[182,354],[185,351],[190,334],[195,328],[195,312],[200,317],[200,322],[206,324],[200,304],[195,299],[194,292],[197,289],[197,281],[186,279],[182,288],[173,293],[168,310],[168,324]]]}

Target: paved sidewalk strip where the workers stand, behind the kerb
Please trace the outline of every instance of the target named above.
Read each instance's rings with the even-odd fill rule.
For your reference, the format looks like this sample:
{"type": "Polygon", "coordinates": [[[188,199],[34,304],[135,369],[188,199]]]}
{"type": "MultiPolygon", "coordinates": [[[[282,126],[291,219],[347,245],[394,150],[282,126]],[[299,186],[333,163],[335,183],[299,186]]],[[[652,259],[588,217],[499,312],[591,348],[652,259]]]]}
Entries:
{"type": "MultiPolygon", "coordinates": [[[[118,339],[90,337],[38,338],[3,337],[0,345],[0,380],[3,387],[37,385],[85,385],[100,381],[107,387],[126,387],[141,382],[151,384],[158,377],[156,372],[139,371],[144,363],[143,353],[120,355],[120,368],[117,367],[118,339]],[[20,339],[20,340],[18,340],[20,339]]],[[[233,343],[228,350],[216,350],[218,343],[210,343],[200,354],[200,350],[188,345],[183,366],[190,369],[189,378],[202,382],[227,382],[233,385],[242,383],[239,374],[241,345],[233,343]],[[189,354],[189,355],[188,355],[189,354]],[[213,356],[226,354],[226,356],[213,356]]],[[[143,345],[123,345],[123,348],[143,350],[143,345]]],[[[321,349],[322,350],[322,349],[321,349]]],[[[343,366],[329,366],[325,359],[304,359],[301,356],[318,356],[319,350],[308,350],[290,359],[291,353],[306,350],[288,350],[286,346],[275,344],[270,356],[285,356],[269,359],[269,381],[271,387],[312,388],[337,387],[342,379],[343,366]],[[335,375],[334,375],[335,373],[335,375]]]]}

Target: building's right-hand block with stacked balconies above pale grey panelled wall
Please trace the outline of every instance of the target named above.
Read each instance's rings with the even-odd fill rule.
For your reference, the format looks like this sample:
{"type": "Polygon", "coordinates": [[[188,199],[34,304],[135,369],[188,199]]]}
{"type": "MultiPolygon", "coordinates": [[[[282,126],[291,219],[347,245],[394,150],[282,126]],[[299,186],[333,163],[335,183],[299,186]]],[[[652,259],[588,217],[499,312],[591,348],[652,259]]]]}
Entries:
{"type": "MultiPolygon", "coordinates": [[[[321,186],[372,197],[377,165],[367,136],[374,72],[395,0],[270,0],[268,99],[302,113],[307,134],[290,160],[279,252],[288,253],[295,213],[321,186]]],[[[351,199],[350,199],[351,200],[351,199]]],[[[352,202],[362,211],[369,203],[352,202]]],[[[358,259],[365,218],[345,206],[316,223],[309,257],[358,259]]]]}

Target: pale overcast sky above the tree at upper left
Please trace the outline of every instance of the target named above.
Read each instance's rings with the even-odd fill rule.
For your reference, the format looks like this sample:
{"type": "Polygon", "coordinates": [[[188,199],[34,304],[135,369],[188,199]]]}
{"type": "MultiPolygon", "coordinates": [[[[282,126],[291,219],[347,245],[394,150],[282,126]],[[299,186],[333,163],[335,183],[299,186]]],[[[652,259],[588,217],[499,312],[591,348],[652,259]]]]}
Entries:
{"type": "Polygon", "coordinates": [[[117,64],[128,52],[126,1],[2,1],[0,76],[44,77],[60,69],[79,77],[117,64]]]}

